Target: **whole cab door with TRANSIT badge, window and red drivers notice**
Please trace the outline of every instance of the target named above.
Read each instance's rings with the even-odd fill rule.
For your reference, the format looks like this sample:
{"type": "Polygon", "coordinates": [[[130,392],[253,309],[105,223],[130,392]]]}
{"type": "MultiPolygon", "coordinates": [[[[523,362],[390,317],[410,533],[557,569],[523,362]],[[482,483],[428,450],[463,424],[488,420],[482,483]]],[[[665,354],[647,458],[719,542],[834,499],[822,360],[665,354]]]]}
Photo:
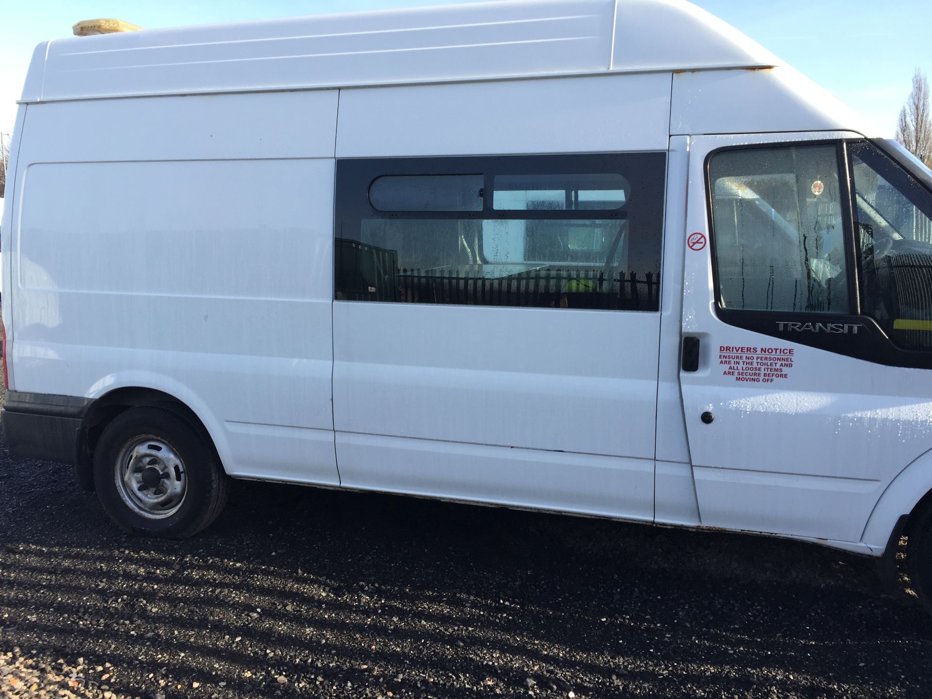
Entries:
{"type": "Polygon", "coordinates": [[[932,446],[929,355],[894,334],[928,334],[930,308],[879,309],[865,288],[889,298],[896,267],[870,277],[888,251],[871,238],[878,221],[856,235],[853,190],[893,196],[876,172],[856,177],[864,144],[692,139],[682,333],[699,355],[680,386],[705,526],[858,541],[884,488],[932,446]]]}

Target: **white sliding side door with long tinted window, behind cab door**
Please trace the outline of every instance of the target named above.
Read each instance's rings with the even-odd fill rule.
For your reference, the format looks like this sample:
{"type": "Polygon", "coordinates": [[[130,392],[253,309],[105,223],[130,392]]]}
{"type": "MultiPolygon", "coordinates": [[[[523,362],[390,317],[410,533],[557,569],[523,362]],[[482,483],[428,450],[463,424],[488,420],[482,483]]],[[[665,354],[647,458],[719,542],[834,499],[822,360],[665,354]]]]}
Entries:
{"type": "Polygon", "coordinates": [[[341,483],[651,519],[664,175],[338,160],[341,483]]]}

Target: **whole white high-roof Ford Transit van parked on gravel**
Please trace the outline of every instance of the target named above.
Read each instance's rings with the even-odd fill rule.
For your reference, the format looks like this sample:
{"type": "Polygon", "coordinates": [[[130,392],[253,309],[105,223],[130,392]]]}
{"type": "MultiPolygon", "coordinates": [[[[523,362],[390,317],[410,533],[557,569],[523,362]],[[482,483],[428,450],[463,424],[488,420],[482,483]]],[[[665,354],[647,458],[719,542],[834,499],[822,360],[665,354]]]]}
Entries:
{"type": "Polygon", "coordinates": [[[932,174],[678,0],[35,50],[7,447],[186,537],[230,478],[814,541],[932,595],[932,174]]]}

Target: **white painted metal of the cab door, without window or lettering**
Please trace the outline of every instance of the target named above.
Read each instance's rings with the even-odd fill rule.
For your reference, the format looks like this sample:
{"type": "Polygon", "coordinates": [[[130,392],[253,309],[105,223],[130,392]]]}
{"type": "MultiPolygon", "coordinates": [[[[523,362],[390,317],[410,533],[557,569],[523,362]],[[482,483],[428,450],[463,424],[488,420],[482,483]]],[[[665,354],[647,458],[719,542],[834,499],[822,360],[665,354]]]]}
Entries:
{"type": "MultiPolygon", "coordinates": [[[[724,146],[859,137],[847,131],[694,137],[690,191],[705,192],[706,156],[724,146]]],[[[691,196],[686,230],[709,236],[708,220],[706,197],[691,196]]],[[[703,525],[861,541],[884,490],[929,448],[932,373],[725,324],[714,311],[711,247],[687,249],[685,259],[682,333],[699,337],[702,352],[699,370],[681,372],[680,383],[703,525]],[[792,349],[793,367],[771,387],[739,383],[721,376],[723,345],[792,349]],[[705,411],[713,423],[700,419],[705,411]]],[[[883,551],[897,517],[883,541],[871,535],[864,543],[883,551]]]]}

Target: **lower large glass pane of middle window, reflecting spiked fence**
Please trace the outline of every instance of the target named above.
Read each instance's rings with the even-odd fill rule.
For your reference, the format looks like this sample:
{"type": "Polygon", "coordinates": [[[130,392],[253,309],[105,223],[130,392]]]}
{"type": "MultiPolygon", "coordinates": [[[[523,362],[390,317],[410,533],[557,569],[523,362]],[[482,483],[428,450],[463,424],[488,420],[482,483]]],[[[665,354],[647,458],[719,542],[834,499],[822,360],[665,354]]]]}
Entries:
{"type": "Polygon", "coordinates": [[[656,293],[652,278],[632,287],[624,272],[626,230],[619,219],[364,220],[364,244],[337,240],[357,257],[338,255],[347,267],[338,288],[343,298],[352,286],[360,299],[411,303],[618,308],[656,293]]]}

